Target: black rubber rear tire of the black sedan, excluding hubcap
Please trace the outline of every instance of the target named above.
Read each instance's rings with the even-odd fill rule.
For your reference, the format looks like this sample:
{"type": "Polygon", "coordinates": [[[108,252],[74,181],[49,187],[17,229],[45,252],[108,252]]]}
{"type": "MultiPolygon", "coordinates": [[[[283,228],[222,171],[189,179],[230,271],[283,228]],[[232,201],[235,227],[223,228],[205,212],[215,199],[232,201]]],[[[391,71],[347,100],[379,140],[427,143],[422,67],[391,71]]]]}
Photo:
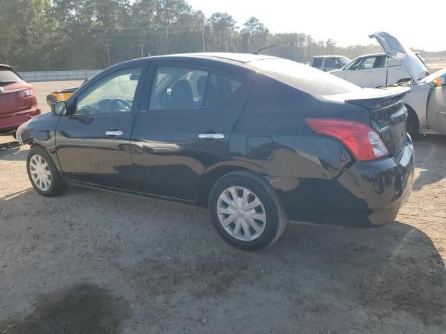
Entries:
{"type": "MultiPolygon", "coordinates": [[[[208,205],[212,222],[220,233],[220,236],[229,244],[244,250],[259,250],[271,246],[279,239],[279,237],[281,237],[285,230],[286,223],[288,222],[282,202],[275,190],[272,189],[265,179],[245,170],[237,170],[220,177],[210,190],[208,205]],[[231,186],[243,187],[252,191],[255,196],[259,198],[266,211],[266,221],[263,227],[264,230],[259,234],[259,237],[256,237],[254,240],[245,241],[236,239],[236,237],[233,237],[229,232],[226,232],[222,223],[220,223],[220,218],[217,214],[219,197],[231,186]]],[[[235,223],[233,224],[235,225],[235,223]]]]}

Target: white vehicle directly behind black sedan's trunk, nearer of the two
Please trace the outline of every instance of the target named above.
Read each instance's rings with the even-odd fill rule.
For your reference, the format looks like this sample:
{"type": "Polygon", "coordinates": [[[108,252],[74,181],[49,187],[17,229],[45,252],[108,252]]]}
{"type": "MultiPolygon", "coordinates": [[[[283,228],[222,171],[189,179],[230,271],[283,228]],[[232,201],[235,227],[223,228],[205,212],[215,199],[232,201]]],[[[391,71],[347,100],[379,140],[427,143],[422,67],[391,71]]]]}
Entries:
{"type": "Polygon", "coordinates": [[[357,57],[340,70],[330,74],[361,87],[376,88],[410,81],[410,74],[401,61],[386,54],[367,54],[357,57]]]}

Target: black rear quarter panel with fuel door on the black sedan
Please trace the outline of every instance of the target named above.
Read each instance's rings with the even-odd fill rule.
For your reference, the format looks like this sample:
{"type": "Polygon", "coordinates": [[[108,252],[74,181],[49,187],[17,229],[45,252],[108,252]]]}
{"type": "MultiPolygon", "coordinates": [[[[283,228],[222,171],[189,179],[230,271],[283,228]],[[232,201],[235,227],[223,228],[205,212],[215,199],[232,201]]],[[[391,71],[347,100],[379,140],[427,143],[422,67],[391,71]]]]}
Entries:
{"type": "Polygon", "coordinates": [[[255,74],[252,81],[252,93],[229,141],[233,159],[254,165],[256,171],[270,177],[337,177],[351,161],[350,153],[334,138],[313,132],[305,120],[345,118],[369,124],[368,111],[325,101],[263,74],[255,74]],[[254,143],[267,145],[259,148],[259,159],[248,154],[253,136],[263,138],[254,143]]]}

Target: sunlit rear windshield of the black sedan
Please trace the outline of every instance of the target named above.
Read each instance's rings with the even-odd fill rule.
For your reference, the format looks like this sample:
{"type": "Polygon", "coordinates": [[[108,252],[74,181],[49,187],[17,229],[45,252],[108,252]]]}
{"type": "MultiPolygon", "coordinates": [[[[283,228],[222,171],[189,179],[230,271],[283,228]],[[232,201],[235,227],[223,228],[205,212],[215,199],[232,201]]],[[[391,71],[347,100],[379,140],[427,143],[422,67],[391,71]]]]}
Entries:
{"type": "Polygon", "coordinates": [[[287,59],[262,59],[246,65],[252,70],[312,95],[335,95],[361,89],[332,74],[287,59]]]}

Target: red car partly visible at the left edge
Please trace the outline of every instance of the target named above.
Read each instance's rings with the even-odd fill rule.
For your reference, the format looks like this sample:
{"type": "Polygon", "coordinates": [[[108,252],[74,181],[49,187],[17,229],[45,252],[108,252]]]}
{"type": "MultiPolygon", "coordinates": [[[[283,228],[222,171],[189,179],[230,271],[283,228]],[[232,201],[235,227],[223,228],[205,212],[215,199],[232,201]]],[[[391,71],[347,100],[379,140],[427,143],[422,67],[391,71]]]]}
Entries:
{"type": "Polygon", "coordinates": [[[19,125],[40,115],[33,86],[0,64],[0,134],[15,136],[19,125]]]}

